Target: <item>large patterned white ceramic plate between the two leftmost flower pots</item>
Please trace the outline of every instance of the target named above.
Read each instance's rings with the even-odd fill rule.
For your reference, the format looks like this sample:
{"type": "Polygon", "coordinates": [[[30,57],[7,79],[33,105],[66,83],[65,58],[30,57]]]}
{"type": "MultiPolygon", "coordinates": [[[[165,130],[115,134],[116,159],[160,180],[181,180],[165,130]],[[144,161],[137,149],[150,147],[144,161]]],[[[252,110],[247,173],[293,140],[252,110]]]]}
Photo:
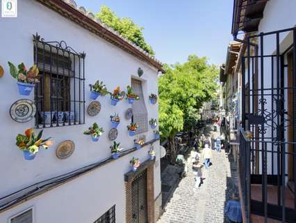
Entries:
{"type": "Polygon", "coordinates": [[[33,101],[28,99],[17,100],[10,107],[10,117],[18,123],[26,123],[34,118],[36,106],[33,101]]]}

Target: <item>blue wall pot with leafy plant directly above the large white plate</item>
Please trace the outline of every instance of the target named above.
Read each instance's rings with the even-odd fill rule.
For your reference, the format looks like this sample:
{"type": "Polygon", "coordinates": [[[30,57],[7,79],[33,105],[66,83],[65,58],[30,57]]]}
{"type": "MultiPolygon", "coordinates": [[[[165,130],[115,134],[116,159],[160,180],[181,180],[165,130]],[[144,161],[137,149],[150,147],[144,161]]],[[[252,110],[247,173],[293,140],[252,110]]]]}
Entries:
{"type": "Polygon", "coordinates": [[[20,63],[17,68],[8,61],[10,75],[17,79],[17,86],[20,95],[30,95],[35,83],[39,82],[39,70],[36,65],[26,70],[24,63],[20,63]]]}

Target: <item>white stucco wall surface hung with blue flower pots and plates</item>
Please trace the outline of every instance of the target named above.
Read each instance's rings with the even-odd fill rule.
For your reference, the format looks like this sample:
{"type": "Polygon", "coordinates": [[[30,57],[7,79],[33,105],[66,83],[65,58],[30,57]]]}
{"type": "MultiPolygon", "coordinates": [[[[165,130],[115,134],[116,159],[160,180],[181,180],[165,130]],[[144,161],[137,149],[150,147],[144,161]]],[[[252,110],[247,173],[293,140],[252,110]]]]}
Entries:
{"type": "MultiPolygon", "coordinates": [[[[4,76],[0,79],[0,197],[31,185],[40,180],[83,167],[110,156],[108,131],[110,115],[115,112],[121,116],[118,126],[117,142],[124,148],[133,146],[126,125],[130,121],[124,118],[124,112],[130,107],[127,100],[119,102],[116,107],[110,105],[110,97],[100,97],[101,112],[94,117],[88,116],[86,108],[90,103],[89,84],[99,79],[106,84],[109,91],[117,86],[126,90],[131,84],[131,77],[137,77],[138,68],[144,70],[141,80],[145,82],[143,93],[148,111],[148,120],[158,118],[158,105],[150,105],[148,95],[157,93],[157,70],[147,65],[122,49],[111,45],[81,26],[45,8],[32,0],[18,1],[17,18],[0,18],[0,65],[4,68],[4,76]],[[25,97],[17,92],[15,79],[10,77],[8,61],[24,62],[27,67],[33,64],[33,34],[40,34],[46,41],[65,40],[67,45],[77,52],[85,52],[85,125],[44,129],[44,137],[53,137],[55,145],[47,151],[40,150],[35,160],[24,160],[23,154],[15,146],[17,133],[35,126],[35,121],[16,123],[10,118],[10,106],[16,100],[28,98],[33,100],[33,93],[25,97]],[[105,130],[99,142],[94,143],[83,134],[92,123],[97,122],[105,130]],[[74,141],[74,154],[66,160],[58,160],[56,146],[70,139],[74,141]]],[[[37,130],[39,131],[39,130],[37,130]]],[[[147,141],[154,138],[153,131],[144,133],[147,141]]],[[[154,169],[154,196],[161,192],[159,142],[154,143],[156,165],[154,169]]],[[[116,205],[117,222],[125,221],[124,174],[129,171],[131,157],[139,157],[141,162],[147,160],[149,146],[126,155],[115,162],[94,170],[85,176],[66,183],[39,197],[26,201],[21,205],[0,213],[0,222],[29,206],[35,207],[36,222],[94,222],[111,206],[116,205]]]]}

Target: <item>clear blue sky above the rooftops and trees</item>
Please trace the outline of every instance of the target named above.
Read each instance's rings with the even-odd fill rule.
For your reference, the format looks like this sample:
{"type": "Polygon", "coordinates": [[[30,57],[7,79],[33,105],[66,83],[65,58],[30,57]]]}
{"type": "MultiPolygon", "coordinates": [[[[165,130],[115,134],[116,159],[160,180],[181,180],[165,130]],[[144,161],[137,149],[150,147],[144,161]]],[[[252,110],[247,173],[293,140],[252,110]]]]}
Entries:
{"type": "Polygon", "coordinates": [[[76,0],[97,13],[106,5],[120,17],[145,27],[143,33],[163,63],[183,63],[188,55],[224,63],[231,36],[233,0],[76,0]]]}

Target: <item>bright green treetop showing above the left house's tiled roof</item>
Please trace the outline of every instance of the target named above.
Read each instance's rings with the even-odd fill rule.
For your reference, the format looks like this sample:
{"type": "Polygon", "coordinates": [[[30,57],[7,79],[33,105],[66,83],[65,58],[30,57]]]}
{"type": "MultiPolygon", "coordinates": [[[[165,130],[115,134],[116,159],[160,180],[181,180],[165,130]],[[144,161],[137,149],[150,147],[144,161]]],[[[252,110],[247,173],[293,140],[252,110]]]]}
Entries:
{"type": "Polygon", "coordinates": [[[144,49],[150,55],[154,55],[152,47],[145,42],[145,38],[142,33],[144,28],[135,24],[130,18],[124,17],[120,19],[120,17],[118,17],[107,6],[101,6],[99,13],[95,16],[99,17],[101,22],[106,23],[126,39],[144,49]]]}

